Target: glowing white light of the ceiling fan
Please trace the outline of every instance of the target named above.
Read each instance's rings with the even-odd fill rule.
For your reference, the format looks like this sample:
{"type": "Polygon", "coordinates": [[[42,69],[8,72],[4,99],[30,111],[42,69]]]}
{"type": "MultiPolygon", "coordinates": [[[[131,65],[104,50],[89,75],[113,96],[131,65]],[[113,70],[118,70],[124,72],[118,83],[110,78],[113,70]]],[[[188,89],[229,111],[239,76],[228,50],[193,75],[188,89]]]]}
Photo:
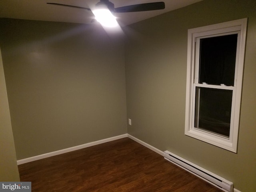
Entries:
{"type": "Polygon", "coordinates": [[[102,26],[105,27],[116,27],[118,23],[116,17],[108,10],[108,8],[98,8],[92,10],[95,19],[100,22],[102,26]]]}

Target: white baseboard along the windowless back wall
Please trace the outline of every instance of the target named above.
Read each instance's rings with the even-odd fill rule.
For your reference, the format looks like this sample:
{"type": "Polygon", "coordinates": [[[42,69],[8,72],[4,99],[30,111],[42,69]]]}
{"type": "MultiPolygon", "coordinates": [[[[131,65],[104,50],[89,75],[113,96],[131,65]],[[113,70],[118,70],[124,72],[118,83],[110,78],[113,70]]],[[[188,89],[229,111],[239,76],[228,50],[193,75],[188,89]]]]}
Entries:
{"type": "Polygon", "coordinates": [[[33,156],[33,157],[17,160],[17,164],[18,165],[24,164],[24,163],[28,163],[28,162],[32,162],[32,161],[36,161],[36,160],[40,160],[40,159],[60,155],[60,154],[63,154],[63,153],[67,153],[67,152],[71,152],[71,151],[91,147],[91,146],[94,146],[94,145],[98,145],[98,144],[102,144],[102,143],[122,139],[122,138],[125,138],[125,137],[128,137],[128,134],[118,135],[118,136],[114,136],[114,137],[111,137],[111,138],[106,138],[106,139],[102,139],[102,140],[98,140],[98,141],[94,141],[94,142],[90,142],[90,143],[86,143],[86,144],[82,144],[82,145],[78,145],[78,146],[74,146],[74,147],[70,147],[70,148],[66,148],[66,149],[62,149],[62,150],[58,150],[58,151],[53,151],[53,152],[38,155],[38,156],[33,156]]]}

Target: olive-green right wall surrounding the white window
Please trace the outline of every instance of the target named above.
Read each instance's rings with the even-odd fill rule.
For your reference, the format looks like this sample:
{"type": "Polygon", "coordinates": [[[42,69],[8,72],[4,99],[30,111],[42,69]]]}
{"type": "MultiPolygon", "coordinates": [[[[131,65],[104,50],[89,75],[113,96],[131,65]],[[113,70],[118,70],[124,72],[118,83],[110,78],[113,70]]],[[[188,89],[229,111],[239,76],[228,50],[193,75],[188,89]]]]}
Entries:
{"type": "Polygon", "coordinates": [[[128,134],[169,150],[232,182],[256,188],[256,2],[204,0],[126,28],[128,134]],[[184,135],[187,32],[248,18],[238,152],[184,135]]]}

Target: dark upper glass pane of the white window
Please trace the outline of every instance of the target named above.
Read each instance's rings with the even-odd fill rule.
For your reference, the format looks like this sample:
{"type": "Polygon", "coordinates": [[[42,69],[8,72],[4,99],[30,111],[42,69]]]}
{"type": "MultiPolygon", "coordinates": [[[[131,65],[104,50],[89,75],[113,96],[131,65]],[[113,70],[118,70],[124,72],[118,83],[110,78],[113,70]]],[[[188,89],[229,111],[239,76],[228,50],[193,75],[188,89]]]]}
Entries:
{"type": "Polygon", "coordinates": [[[234,86],[237,36],[200,39],[199,83],[234,86]]]}

